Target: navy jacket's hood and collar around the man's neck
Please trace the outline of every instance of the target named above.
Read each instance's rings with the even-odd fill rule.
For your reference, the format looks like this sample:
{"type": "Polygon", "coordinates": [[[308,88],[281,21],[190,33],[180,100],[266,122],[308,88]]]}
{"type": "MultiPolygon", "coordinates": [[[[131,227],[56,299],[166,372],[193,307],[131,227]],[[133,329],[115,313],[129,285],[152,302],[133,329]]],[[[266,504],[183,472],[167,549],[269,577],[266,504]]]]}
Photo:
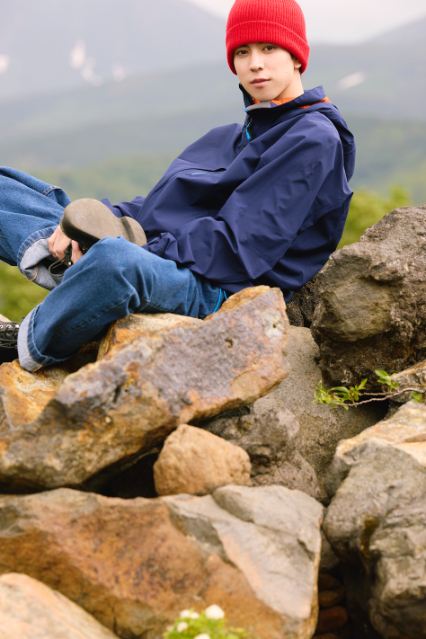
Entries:
{"type": "Polygon", "coordinates": [[[250,119],[253,122],[255,135],[257,127],[260,129],[270,128],[271,126],[276,126],[288,119],[307,115],[314,111],[322,113],[326,118],[328,118],[328,120],[330,120],[339,134],[343,146],[346,177],[348,181],[351,179],[355,170],[355,139],[339,109],[331,102],[323,102],[324,98],[327,96],[322,86],[305,91],[303,95],[299,96],[295,100],[278,106],[271,102],[254,104],[252,97],[241,84],[240,89],[244,96],[244,106],[247,113],[247,119],[250,119]]]}

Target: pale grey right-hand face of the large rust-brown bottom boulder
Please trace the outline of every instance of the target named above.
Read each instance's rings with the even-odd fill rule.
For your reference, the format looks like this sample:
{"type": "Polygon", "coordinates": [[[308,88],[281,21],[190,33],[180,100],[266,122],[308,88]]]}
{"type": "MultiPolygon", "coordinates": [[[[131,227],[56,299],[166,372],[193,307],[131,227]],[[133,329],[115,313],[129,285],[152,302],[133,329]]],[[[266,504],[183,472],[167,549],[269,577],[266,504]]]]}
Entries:
{"type": "Polygon", "coordinates": [[[185,534],[237,566],[257,597],[287,619],[285,636],[312,636],[321,548],[318,502],[282,486],[225,486],[212,497],[165,499],[185,534]]]}

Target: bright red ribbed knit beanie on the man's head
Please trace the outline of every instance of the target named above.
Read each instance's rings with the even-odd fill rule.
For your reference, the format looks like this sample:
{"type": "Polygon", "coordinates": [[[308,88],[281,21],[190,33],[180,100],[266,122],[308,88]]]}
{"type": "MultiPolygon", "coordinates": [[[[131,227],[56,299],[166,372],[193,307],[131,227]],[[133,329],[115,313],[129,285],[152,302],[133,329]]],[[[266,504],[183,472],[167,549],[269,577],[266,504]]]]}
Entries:
{"type": "Polygon", "coordinates": [[[295,0],[236,0],[226,26],[229,68],[235,73],[234,53],[242,44],[269,42],[292,53],[306,71],[309,45],[302,9],[295,0]]]}

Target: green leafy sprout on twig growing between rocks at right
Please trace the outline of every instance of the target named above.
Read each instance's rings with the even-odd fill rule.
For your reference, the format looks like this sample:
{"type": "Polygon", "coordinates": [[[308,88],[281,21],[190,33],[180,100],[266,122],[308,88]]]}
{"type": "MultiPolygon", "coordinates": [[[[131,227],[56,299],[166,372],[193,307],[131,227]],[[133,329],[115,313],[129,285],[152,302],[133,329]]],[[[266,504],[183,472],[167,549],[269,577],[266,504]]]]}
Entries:
{"type": "Polygon", "coordinates": [[[318,382],[315,388],[313,403],[315,404],[328,404],[331,408],[336,406],[343,406],[345,410],[349,410],[350,406],[360,406],[361,404],[369,404],[370,402],[382,402],[385,399],[391,399],[397,397],[403,393],[412,392],[411,399],[415,402],[423,402],[424,394],[426,390],[416,385],[414,387],[402,387],[399,388],[399,383],[394,381],[395,373],[389,375],[386,371],[376,370],[377,380],[381,386],[385,387],[383,393],[368,393],[370,399],[360,401],[361,397],[365,394],[364,388],[368,382],[368,378],[362,380],[359,386],[335,386],[334,388],[324,388],[322,382],[318,382]]]}

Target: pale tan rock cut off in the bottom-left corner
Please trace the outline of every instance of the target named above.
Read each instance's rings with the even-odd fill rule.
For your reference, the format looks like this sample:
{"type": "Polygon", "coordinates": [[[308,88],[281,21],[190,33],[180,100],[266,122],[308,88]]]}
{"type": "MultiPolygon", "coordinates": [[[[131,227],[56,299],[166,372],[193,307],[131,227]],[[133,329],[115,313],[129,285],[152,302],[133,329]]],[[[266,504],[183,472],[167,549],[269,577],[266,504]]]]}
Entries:
{"type": "Polygon", "coordinates": [[[0,639],[117,639],[82,608],[27,575],[0,577],[0,639]]]}

